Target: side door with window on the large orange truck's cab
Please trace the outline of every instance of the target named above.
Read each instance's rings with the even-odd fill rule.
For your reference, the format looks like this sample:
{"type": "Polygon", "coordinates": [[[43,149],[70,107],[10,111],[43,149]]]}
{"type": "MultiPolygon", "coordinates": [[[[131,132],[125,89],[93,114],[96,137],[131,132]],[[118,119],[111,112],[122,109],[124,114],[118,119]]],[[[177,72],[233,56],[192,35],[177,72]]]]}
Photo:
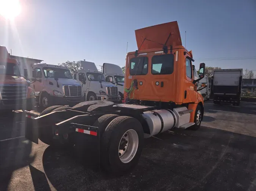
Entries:
{"type": "Polygon", "coordinates": [[[197,96],[196,96],[196,85],[193,84],[193,69],[192,69],[192,63],[191,60],[186,58],[185,63],[185,69],[186,69],[186,76],[185,76],[185,86],[184,86],[184,101],[183,103],[190,103],[190,102],[196,102],[197,96]]]}

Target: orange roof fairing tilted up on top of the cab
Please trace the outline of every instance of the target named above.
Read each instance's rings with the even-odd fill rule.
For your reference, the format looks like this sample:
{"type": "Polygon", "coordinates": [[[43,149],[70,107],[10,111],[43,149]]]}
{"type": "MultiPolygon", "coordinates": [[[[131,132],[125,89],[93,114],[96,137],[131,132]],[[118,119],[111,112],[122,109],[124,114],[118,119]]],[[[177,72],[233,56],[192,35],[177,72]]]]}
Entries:
{"type": "Polygon", "coordinates": [[[140,51],[182,45],[177,21],[135,30],[135,36],[140,51]]]}

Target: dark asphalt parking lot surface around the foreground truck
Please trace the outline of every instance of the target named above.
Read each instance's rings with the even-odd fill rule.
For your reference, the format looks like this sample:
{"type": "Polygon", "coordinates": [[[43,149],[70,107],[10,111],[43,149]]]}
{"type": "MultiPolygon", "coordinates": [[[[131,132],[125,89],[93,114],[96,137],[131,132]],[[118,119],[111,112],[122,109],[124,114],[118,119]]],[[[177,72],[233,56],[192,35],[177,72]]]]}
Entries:
{"type": "Polygon", "coordinates": [[[72,149],[31,143],[21,117],[1,117],[0,190],[256,190],[256,103],[207,101],[198,131],[145,139],[138,166],[122,177],[77,160],[72,149]]]}

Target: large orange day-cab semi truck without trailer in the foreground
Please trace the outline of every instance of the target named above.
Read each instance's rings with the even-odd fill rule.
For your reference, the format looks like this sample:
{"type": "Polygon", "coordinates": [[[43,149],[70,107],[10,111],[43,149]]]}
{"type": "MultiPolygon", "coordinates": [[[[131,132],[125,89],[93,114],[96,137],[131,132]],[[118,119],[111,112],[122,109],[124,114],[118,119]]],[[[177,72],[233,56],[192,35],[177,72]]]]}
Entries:
{"type": "Polygon", "coordinates": [[[138,50],[126,57],[123,104],[87,101],[72,108],[52,106],[40,115],[25,111],[25,137],[56,148],[74,146],[87,156],[91,148],[99,149],[102,169],[123,174],[137,165],[144,138],[173,128],[197,130],[204,102],[196,82],[203,79],[205,64],[195,79],[192,51],[182,46],[177,22],[135,35],[138,50]]]}

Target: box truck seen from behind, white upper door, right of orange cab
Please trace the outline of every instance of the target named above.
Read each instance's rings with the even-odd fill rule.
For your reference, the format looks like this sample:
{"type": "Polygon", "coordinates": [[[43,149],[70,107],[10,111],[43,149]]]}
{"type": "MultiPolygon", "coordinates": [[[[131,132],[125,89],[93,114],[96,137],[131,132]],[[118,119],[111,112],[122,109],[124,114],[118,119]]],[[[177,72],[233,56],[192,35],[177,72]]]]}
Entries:
{"type": "Polygon", "coordinates": [[[210,98],[214,103],[231,102],[239,105],[241,99],[243,69],[214,69],[210,98]]]}

